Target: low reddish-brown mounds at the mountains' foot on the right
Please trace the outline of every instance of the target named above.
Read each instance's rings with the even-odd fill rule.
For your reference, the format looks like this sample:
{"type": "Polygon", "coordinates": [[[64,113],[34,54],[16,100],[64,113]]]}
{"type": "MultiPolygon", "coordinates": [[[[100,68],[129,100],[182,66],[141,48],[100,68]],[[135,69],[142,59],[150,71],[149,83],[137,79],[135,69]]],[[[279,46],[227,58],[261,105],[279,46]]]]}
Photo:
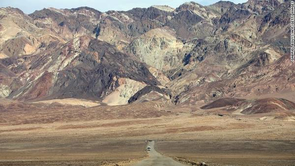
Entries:
{"type": "Polygon", "coordinates": [[[295,121],[295,103],[282,98],[238,99],[222,98],[201,109],[215,111],[219,115],[252,115],[261,120],[295,121]],[[213,109],[213,110],[212,110],[213,109]]]}

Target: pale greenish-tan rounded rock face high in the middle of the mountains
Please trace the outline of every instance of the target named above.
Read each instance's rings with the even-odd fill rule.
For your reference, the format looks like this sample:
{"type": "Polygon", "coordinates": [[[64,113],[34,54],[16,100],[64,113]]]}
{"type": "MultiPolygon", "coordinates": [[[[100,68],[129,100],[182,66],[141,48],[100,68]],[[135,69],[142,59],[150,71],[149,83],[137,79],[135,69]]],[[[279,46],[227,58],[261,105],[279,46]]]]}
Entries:
{"type": "Polygon", "coordinates": [[[183,44],[168,28],[155,28],[132,41],[129,52],[153,68],[167,71],[177,65],[183,44]]]}

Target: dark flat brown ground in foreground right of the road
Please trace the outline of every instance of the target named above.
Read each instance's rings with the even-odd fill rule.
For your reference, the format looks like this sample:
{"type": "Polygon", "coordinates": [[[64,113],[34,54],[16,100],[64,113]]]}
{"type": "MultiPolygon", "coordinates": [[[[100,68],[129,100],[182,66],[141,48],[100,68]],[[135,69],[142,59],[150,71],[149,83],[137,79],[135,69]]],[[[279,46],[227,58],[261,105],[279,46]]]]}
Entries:
{"type": "Polygon", "coordinates": [[[174,140],[157,141],[164,155],[209,166],[294,166],[295,141],[174,140]]]}

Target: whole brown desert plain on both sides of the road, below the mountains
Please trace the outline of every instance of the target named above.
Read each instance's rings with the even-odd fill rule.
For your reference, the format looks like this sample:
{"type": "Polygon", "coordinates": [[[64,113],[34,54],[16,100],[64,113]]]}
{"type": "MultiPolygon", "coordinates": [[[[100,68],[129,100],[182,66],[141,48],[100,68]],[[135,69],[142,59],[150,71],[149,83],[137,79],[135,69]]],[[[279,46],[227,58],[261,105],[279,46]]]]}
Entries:
{"type": "Polygon", "coordinates": [[[176,160],[213,166],[295,163],[294,122],[156,102],[34,109],[1,111],[0,165],[132,165],[147,156],[146,139],[176,160]]]}

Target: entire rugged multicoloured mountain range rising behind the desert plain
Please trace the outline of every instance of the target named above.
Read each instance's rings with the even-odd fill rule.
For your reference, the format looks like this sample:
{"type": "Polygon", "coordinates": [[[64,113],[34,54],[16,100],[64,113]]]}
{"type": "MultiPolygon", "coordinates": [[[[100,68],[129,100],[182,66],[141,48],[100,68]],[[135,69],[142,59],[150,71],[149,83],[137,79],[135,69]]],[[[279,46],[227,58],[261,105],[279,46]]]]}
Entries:
{"type": "Polygon", "coordinates": [[[289,6],[0,8],[0,97],[196,105],[294,91],[289,6]]]}

